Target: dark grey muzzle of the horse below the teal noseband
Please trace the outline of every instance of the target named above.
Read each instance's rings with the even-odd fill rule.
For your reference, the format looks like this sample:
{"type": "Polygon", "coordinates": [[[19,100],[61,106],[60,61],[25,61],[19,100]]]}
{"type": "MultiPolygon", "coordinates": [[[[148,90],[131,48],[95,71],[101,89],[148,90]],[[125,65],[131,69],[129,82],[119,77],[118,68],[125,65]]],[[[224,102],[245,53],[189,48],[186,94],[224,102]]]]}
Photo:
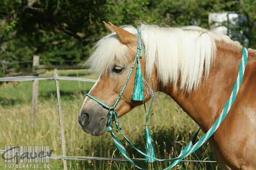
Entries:
{"type": "Polygon", "coordinates": [[[90,133],[93,136],[100,136],[106,131],[107,113],[95,112],[91,109],[83,109],[78,117],[78,122],[83,131],[90,133]]]}

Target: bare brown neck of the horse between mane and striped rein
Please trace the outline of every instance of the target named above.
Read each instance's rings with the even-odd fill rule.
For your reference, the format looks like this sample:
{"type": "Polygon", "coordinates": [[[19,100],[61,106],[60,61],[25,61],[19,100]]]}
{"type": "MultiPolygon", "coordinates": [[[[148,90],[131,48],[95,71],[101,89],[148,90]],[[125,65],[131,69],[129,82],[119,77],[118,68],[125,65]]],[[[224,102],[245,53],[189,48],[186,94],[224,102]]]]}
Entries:
{"type": "Polygon", "coordinates": [[[185,94],[179,92],[178,85],[171,83],[159,90],[171,96],[204,132],[217,120],[228,101],[242,56],[242,47],[223,41],[217,41],[216,45],[217,53],[209,77],[204,82],[202,80],[196,91],[185,94]]]}

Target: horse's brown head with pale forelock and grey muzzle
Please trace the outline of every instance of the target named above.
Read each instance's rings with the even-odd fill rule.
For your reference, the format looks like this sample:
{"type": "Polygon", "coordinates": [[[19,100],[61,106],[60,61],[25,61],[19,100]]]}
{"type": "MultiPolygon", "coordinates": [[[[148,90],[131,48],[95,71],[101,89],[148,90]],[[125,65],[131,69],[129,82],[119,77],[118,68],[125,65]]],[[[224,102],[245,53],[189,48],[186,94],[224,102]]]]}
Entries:
{"type": "MultiPolygon", "coordinates": [[[[89,94],[106,105],[113,106],[134,61],[138,38],[136,36],[137,32],[134,32],[132,28],[122,29],[111,22],[109,22],[110,25],[106,22],[104,24],[111,34],[96,43],[95,51],[87,61],[87,64],[100,74],[89,94]]],[[[142,75],[145,77],[144,54],[140,63],[142,75]]],[[[135,65],[135,69],[136,67],[137,65],[135,65]]],[[[150,95],[145,95],[145,100],[143,101],[132,100],[135,73],[136,71],[132,72],[129,83],[115,107],[118,116],[124,115],[135,106],[141,105],[150,99],[150,95]]],[[[78,119],[83,131],[99,136],[106,131],[107,116],[108,109],[102,107],[91,98],[85,97],[78,119]]]]}

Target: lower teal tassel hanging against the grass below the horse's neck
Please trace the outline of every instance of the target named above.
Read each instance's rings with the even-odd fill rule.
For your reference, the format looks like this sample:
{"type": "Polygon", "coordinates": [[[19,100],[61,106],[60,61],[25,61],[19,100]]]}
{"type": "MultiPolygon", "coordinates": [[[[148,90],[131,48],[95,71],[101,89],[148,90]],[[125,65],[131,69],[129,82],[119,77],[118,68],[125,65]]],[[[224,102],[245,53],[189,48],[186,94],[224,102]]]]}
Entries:
{"type": "Polygon", "coordinates": [[[156,161],[156,155],[155,155],[155,150],[154,150],[154,145],[151,139],[150,131],[148,129],[148,126],[146,126],[146,137],[147,137],[147,149],[146,149],[146,154],[150,157],[145,157],[145,162],[154,162],[156,161]],[[153,158],[151,158],[153,157],[153,158]]]}

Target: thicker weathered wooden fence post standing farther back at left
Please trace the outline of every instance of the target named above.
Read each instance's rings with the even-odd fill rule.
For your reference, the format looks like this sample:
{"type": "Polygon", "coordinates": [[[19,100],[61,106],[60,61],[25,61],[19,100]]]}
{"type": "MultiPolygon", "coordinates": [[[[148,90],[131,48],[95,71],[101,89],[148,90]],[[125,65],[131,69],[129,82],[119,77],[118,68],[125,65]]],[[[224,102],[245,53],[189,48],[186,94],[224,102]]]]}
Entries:
{"type": "MultiPolygon", "coordinates": [[[[35,67],[39,65],[39,56],[33,56],[33,71],[35,71],[35,67]]],[[[38,75],[36,75],[38,76],[38,75]]],[[[33,80],[32,83],[32,129],[34,129],[36,125],[37,118],[37,103],[38,103],[38,80],[33,80]]]]}

